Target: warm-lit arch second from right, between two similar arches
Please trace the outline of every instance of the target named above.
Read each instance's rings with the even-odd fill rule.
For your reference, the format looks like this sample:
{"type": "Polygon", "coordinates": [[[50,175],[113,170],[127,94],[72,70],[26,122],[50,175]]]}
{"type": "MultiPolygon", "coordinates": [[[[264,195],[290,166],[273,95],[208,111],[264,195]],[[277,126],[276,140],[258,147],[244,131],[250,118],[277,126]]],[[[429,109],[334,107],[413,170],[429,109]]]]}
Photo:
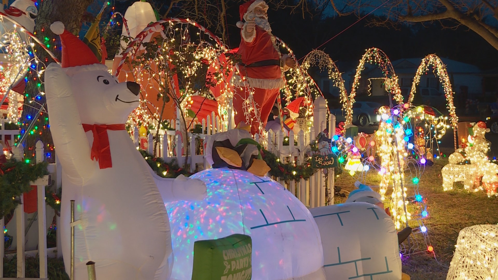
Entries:
{"type": "Polygon", "coordinates": [[[401,89],[398,84],[398,76],[394,72],[394,67],[389,60],[389,57],[378,48],[370,48],[360,59],[360,64],[356,69],[355,79],[353,80],[353,86],[351,87],[351,93],[349,99],[342,100],[343,107],[346,108],[346,125],[350,125],[353,121],[353,104],[355,103],[355,96],[358,87],[360,86],[360,79],[362,78],[361,73],[365,69],[365,63],[369,62],[376,64],[382,73],[384,74],[384,84],[385,90],[393,99],[398,103],[403,103],[403,96],[401,95],[401,89]]]}

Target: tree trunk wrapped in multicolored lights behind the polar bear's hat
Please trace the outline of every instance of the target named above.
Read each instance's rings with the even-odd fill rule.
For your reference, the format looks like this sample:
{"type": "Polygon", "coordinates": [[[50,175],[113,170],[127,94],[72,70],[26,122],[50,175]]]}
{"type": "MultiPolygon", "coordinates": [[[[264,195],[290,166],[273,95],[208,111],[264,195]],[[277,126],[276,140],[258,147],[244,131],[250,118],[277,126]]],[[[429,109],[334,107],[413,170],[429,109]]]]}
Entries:
{"type": "MultiPolygon", "coordinates": [[[[60,60],[61,57],[61,44],[59,36],[52,33],[50,24],[55,21],[62,21],[67,30],[73,34],[78,34],[82,25],[82,16],[87,7],[93,0],[42,0],[40,3],[38,17],[34,27],[34,34],[41,42],[49,45],[49,49],[60,60]],[[48,40],[46,40],[47,38],[48,40]],[[55,39],[55,41],[53,41],[55,39]]],[[[41,71],[53,62],[48,53],[43,50],[38,44],[35,43],[34,51],[41,63],[38,63],[37,69],[41,71]]],[[[42,104],[45,103],[45,97],[42,95],[40,99],[35,99],[39,92],[44,91],[43,85],[38,87],[39,78],[36,71],[31,70],[27,75],[28,82],[26,83],[26,90],[24,92],[24,103],[30,105],[23,106],[21,117],[21,138],[23,134],[27,134],[23,140],[25,147],[24,151],[28,158],[32,158],[34,154],[34,145],[37,140],[42,140],[44,143],[45,152],[50,152],[53,149],[52,136],[50,135],[47,120],[48,116],[45,113],[38,113],[42,104]],[[33,108],[34,107],[34,108],[33,108]],[[29,127],[30,123],[34,124],[29,127]],[[28,130],[29,128],[29,130],[28,130]],[[30,132],[33,132],[32,134],[30,132]],[[41,134],[40,134],[41,133],[41,134]]],[[[43,81],[43,75],[40,77],[43,81]]],[[[43,111],[46,111],[46,105],[43,111]]],[[[50,160],[50,157],[47,158],[50,160]]],[[[52,161],[54,157],[51,156],[52,161]]]]}

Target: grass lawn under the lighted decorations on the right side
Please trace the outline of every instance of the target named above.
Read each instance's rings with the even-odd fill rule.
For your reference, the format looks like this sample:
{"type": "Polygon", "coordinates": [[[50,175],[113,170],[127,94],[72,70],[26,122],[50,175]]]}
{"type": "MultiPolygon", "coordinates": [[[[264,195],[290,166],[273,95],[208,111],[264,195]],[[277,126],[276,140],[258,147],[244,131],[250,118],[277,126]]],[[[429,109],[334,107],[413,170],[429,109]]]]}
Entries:
{"type": "MultiPolygon", "coordinates": [[[[445,280],[460,230],[477,224],[498,224],[497,197],[489,198],[481,191],[468,193],[459,183],[455,184],[453,191],[443,191],[440,174],[446,163],[447,157],[436,159],[434,165],[425,167],[420,177],[419,192],[427,198],[429,212],[429,218],[424,219],[424,224],[434,247],[435,258],[427,251],[403,258],[402,270],[412,280],[445,280]]],[[[336,178],[336,186],[351,191],[355,189],[355,181],[347,172],[343,172],[336,178]]],[[[375,186],[378,182],[379,176],[369,172],[366,183],[375,186]]],[[[413,195],[409,188],[407,195],[413,195]]],[[[336,204],[345,200],[346,198],[335,197],[336,204]]]]}

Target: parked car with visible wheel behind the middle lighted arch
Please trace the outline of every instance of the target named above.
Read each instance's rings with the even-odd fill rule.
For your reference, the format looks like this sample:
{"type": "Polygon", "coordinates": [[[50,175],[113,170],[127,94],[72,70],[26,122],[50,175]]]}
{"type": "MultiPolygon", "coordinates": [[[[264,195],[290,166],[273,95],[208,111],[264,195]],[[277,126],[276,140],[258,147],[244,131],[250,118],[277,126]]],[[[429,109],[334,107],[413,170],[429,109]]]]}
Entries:
{"type": "MultiPolygon", "coordinates": [[[[380,103],[370,101],[357,101],[353,104],[353,124],[367,127],[370,124],[377,124],[380,121],[378,109],[380,103]]],[[[346,112],[339,109],[332,109],[331,113],[336,116],[336,122],[346,121],[346,112]]]]}

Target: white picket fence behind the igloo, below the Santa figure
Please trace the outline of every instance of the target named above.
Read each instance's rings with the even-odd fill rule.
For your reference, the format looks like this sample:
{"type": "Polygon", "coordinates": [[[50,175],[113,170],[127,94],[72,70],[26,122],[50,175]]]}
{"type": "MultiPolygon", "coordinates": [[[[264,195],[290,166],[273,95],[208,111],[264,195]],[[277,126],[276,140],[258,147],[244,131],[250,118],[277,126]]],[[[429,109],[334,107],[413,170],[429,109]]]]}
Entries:
{"type": "MultiPolygon", "coordinates": [[[[316,138],[318,133],[323,132],[326,128],[328,128],[329,137],[332,138],[335,132],[334,115],[330,114],[328,116],[329,122],[327,123],[328,112],[325,99],[321,97],[317,98],[314,105],[313,127],[309,132],[301,130],[297,135],[294,135],[291,131],[288,136],[288,145],[284,145],[284,138],[287,136],[284,136],[282,131],[269,131],[263,136],[255,135],[254,139],[261,143],[265,149],[279,156],[279,160],[284,163],[296,162],[299,164],[304,162],[304,151],[309,148],[310,141],[316,138]],[[297,145],[295,144],[295,141],[297,142],[297,145]],[[297,161],[295,160],[296,158],[297,161]]],[[[212,135],[223,131],[220,119],[218,117],[215,118],[215,113],[213,112],[211,116],[208,116],[207,120],[202,120],[202,131],[207,131],[205,134],[187,134],[190,145],[188,157],[185,155],[185,150],[182,152],[182,147],[185,147],[187,141],[182,140],[183,134],[180,131],[180,121],[171,120],[170,124],[174,124],[174,126],[172,125],[175,129],[174,131],[151,131],[148,135],[148,152],[154,154],[155,148],[155,155],[157,157],[163,158],[166,162],[176,160],[180,166],[183,166],[185,160],[187,160],[187,163],[190,166],[190,172],[211,167],[209,162],[207,162],[204,157],[204,154],[197,152],[197,145],[199,145],[202,141],[204,149],[207,141],[212,135]],[[158,138],[158,144],[154,147],[154,141],[156,138],[158,138]]],[[[193,127],[195,127],[195,125],[193,125],[192,128],[193,127]]],[[[134,132],[134,141],[138,146],[139,139],[137,130],[134,132]]],[[[274,179],[278,180],[280,184],[296,195],[296,197],[303,202],[304,205],[309,207],[324,206],[326,204],[326,188],[330,191],[330,203],[334,203],[335,176],[333,168],[326,170],[327,176],[325,175],[324,170],[325,169],[319,170],[307,180],[301,179],[299,181],[283,181],[278,180],[278,178],[274,179]]]]}

